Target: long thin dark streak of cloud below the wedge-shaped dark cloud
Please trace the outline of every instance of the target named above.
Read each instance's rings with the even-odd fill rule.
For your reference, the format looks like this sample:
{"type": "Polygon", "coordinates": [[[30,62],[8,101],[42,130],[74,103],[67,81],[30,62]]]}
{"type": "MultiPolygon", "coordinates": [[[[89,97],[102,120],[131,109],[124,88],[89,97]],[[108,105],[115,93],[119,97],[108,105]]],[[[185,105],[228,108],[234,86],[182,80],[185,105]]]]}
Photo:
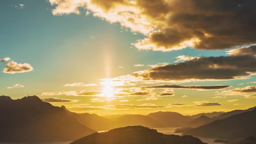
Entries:
{"type": "Polygon", "coordinates": [[[197,89],[197,90],[216,90],[225,89],[231,86],[216,85],[216,86],[179,86],[179,85],[156,85],[156,86],[142,86],[141,89],[197,89]]]}

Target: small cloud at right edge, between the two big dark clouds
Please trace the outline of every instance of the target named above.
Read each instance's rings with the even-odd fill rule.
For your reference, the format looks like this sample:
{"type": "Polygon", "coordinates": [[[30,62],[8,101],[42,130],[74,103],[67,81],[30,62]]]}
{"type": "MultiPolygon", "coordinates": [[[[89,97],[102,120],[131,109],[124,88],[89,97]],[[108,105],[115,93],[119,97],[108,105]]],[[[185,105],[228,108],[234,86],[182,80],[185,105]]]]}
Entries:
{"type": "Polygon", "coordinates": [[[256,55],[256,45],[246,46],[238,49],[231,49],[226,51],[226,54],[231,56],[256,55]]]}

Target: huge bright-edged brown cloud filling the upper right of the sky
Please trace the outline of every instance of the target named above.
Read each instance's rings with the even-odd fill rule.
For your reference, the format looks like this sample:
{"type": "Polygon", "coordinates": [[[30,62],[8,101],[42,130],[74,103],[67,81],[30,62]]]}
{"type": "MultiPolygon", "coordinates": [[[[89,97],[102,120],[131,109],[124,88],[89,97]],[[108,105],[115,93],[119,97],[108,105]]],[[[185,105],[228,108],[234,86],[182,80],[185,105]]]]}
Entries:
{"type": "Polygon", "coordinates": [[[138,49],[229,49],[256,42],[255,0],[49,0],[53,15],[87,9],[147,36],[138,49]]]}

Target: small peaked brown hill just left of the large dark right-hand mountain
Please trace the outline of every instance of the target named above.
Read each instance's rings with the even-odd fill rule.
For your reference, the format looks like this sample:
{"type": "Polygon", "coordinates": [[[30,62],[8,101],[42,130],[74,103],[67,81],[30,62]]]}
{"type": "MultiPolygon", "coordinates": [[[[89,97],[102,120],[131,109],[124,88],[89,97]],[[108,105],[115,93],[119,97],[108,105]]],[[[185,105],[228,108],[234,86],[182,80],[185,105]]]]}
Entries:
{"type": "Polygon", "coordinates": [[[208,123],[213,122],[213,121],[214,121],[213,119],[211,119],[211,118],[209,118],[207,116],[202,115],[202,116],[198,117],[197,119],[194,119],[191,122],[187,123],[183,127],[184,128],[188,128],[188,127],[197,128],[199,126],[208,124],[208,123]]]}

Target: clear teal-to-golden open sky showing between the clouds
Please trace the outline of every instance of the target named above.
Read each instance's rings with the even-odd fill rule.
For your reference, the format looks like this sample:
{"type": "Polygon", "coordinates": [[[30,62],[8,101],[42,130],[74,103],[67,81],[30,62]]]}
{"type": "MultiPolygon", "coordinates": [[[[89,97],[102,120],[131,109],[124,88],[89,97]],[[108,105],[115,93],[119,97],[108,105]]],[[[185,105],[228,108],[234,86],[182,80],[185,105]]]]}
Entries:
{"type": "MultiPolygon", "coordinates": [[[[32,71],[26,73],[0,73],[1,95],[8,95],[13,99],[27,95],[39,95],[43,98],[46,97],[41,95],[43,92],[101,91],[103,86],[64,87],[63,85],[77,82],[97,83],[100,79],[114,78],[150,69],[146,65],[163,62],[173,64],[179,55],[227,56],[225,51],[230,50],[230,48],[223,50],[185,48],[170,52],[138,50],[131,43],[144,39],[147,37],[146,34],[131,32],[129,27],[121,26],[119,22],[110,23],[93,16],[92,13],[86,15],[87,9],[83,8],[79,8],[80,14],[78,15],[75,13],[53,15],[52,9],[55,7],[46,0],[0,1],[0,59],[10,57],[15,62],[28,63],[33,67],[32,71]],[[24,4],[24,6],[20,4],[24,4]],[[145,66],[134,67],[135,64],[144,64],[145,66]],[[24,88],[6,89],[15,84],[24,85],[24,88]]],[[[0,68],[4,68],[7,63],[1,62],[0,68]]],[[[252,76],[250,79],[244,80],[189,82],[179,85],[229,85],[233,88],[228,89],[234,89],[253,85],[238,86],[240,83],[254,81],[256,81],[255,76],[252,76]]],[[[166,82],[165,84],[174,83],[166,82]]],[[[133,86],[124,88],[128,87],[133,86]]],[[[214,101],[220,102],[222,105],[214,108],[207,107],[205,110],[230,110],[233,107],[226,102],[229,99],[239,99],[240,108],[253,106],[255,102],[255,99],[244,98],[244,96],[237,98],[238,95],[230,96],[225,100],[212,99],[216,96],[214,91],[179,89],[175,90],[175,96],[155,101],[135,101],[134,103],[129,101],[127,103],[168,105],[182,102],[189,105],[195,101],[214,101]],[[183,95],[189,95],[188,99],[180,98],[183,95]],[[175,98],[175,96],[179,96],[179,98],[175,98]]],[[[95,104],[88,96],[55,95],[48,97],[78,99],[80,100],[79,104],[95,106],[107,104],[106,102],[95,104]]],[[[118,102],[112,103],[118,104],[118,102]]],[[[63,105],[65,103],[52,104],[63,105]]],[[[170,109],[173,110],[173,108],[170,109]]],[[[187,109],[177,108],[180,111],[187,109]]],[[[202,108],[193,107],[192,109],[198,111],[202,108]]],[[[141,111],[144,113],[148,110],[141,111]]],[[[97,111],[94,112],[97,113],[97,111]]],[[[115,110],[115,112],[119,111],[115,110]]]]}

